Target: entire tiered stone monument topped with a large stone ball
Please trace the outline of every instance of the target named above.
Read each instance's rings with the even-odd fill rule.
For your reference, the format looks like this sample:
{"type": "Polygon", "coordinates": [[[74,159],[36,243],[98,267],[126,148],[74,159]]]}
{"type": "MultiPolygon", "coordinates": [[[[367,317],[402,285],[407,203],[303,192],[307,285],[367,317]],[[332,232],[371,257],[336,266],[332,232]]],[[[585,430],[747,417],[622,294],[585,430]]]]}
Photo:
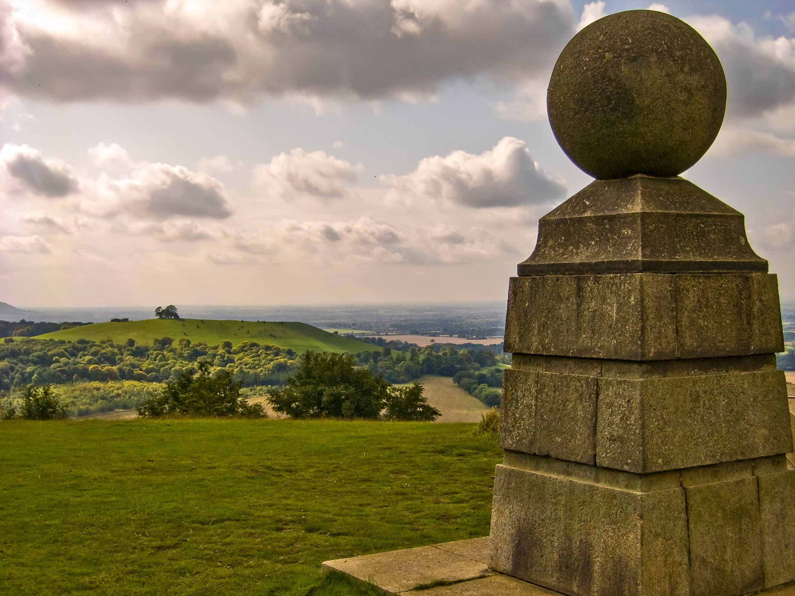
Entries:
{"type": "Polygon", "coordinates": [[[712,48],[630,10],[577,33],[549,122],[596,180],[510,280],[491,568],[572,596],[795,580],[776,276],[743,215],[679,177],[726,106],[712,48]]]}

